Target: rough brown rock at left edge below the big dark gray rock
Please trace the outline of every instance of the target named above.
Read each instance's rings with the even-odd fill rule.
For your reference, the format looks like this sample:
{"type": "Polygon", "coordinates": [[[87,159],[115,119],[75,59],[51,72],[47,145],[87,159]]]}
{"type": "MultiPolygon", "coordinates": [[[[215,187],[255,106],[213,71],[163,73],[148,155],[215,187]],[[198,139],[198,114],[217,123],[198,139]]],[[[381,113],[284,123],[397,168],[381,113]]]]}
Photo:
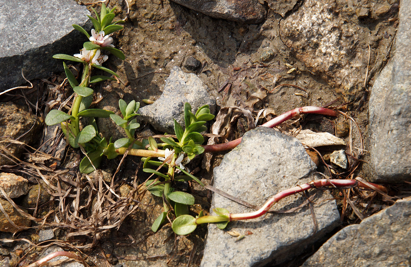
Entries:
{"type": "MultiPolygon", "coordinates": [[[[0,136],[9,136],[11,139],[18,139],[18,141],[29,144],[37,139],[37,133],[42,124],[42,118],[30,114],[27,106],[15,105],[12,102],[0,103],[0,136]]],[[[21,144],[12,144],[7,141],[2,142],[1,146],[15,157],[20,157],[23,149],[21,144]]],[[[3,151],[2,154],[8,155],[3,151]]],[[[8,157],[11,156],[8,155],[8,157]]],[[[0,155],[0,165],[6,164],[13,164],[13,162],[0,155]]]]}

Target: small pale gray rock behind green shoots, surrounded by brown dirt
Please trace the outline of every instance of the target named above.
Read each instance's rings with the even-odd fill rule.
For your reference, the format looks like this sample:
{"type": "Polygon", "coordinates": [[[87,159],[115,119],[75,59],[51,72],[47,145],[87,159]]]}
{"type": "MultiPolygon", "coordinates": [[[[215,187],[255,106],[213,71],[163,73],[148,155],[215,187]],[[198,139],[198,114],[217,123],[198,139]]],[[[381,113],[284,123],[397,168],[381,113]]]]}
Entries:
{"type": "Polygon", "coordinates": [[[164,85],[163,94],[154,104],[140,108],[141,117],[159,131],[174,133],[174,121],[184,127],[184,103],[190,103],[193,113],[203,106],[210,106],[215,113],[215,98],[207,86],[193,73],[185,73],[175,66],[164,85]]]}

